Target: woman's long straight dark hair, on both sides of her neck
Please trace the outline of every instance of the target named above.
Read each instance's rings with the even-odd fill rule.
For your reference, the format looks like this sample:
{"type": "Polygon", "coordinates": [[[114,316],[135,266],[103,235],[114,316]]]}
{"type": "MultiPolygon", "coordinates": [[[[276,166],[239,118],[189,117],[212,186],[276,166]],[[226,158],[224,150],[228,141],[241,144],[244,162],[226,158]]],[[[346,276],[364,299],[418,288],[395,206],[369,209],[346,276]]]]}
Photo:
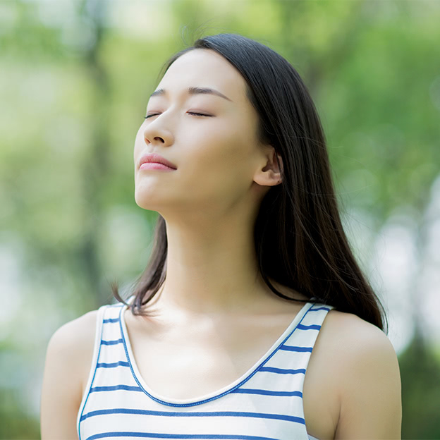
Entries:
{"type": "MultiPolygon", "coordinates": [[[[164,73],[193,49],[216,51],[243,75],[247,97],[259,115],[259,139],[282,159],[282,183],[264,196],[255,222],[259,271],[267,286],[281,298],[295,300],[277,291],[271,278],[312,302],[333,305],[384,329],[384,309],[343,231],[324,130],[298,72],[266,45],[222,33],[199,38],[173,55],[164,64],[164,73]]],[[[142,306],[164,283],[167,245],[166,223],[159,214],[149,262],[130,293],[133,314],[148,314],[142,306]]],[[[117,284],[111,283],[111,288],[125,303],[117,284]]]]}

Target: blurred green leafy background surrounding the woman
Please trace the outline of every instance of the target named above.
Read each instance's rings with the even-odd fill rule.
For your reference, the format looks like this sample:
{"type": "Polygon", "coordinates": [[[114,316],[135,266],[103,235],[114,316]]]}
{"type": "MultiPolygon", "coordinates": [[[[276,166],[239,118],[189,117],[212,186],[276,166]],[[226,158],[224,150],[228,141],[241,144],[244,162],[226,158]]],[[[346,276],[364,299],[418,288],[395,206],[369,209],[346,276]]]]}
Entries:
{"type": "Polygon", "coordinates": [[[39,438],[51,334],[147,264],[133,145],[162,63],[236,32],[309,87],[389,312],[403,439],[440,439],[439,23],[435,0],[0,1],[0,438],[39,438]]]}

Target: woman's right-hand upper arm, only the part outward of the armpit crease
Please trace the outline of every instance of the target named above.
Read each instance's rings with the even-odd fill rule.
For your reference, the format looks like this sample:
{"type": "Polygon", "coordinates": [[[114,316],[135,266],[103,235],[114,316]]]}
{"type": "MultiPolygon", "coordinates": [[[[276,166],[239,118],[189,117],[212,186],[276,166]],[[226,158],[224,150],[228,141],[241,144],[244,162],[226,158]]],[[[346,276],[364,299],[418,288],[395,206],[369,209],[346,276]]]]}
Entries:
{"type": "Polygon", "coordinates": [[[401,439],[401,377],[386,335],[350,315],[341,347],[340,414],[335,439],[401,439]]]}

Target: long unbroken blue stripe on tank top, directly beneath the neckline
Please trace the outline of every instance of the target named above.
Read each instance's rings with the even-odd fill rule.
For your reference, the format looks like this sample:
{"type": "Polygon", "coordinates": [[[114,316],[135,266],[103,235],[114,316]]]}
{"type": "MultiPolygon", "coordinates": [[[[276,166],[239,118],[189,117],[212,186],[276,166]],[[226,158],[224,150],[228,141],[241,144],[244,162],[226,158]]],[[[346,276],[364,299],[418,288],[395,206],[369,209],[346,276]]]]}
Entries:
{"type": "Polygon", "coordinates": [[[258,419],[275,419],[286,420],[287,422],[296,422],[305,424],[302,417],[283,414],[269,414],[267,412],[244,412],[244,411],[199,411],[199,412],[175,412],[175,411],[152,411],[152,410],[135,410],[130,408],[111,408],[110,410],[90,411],[83,415],[82,419],[87,419],[95,415],[104,414],[138,414],[138,415],[154,415],[168,417],[255,417],[258,419]]]}

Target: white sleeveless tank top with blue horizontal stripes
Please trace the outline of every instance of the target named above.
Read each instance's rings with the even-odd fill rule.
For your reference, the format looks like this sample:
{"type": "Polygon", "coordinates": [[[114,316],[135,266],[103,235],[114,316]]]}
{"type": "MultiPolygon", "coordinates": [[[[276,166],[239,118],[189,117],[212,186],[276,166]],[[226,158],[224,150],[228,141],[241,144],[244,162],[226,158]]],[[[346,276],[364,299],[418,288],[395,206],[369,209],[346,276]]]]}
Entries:
{"type": "Polygon", "coordinates": [[[79,439],[312,439],[302,385],[331,308],[307,302],[242,377],[200,398],[176,400],[158,396],[140,376],[124,321],[127,306],[100,307],[92,368],[78,411],[79,439]]]}

